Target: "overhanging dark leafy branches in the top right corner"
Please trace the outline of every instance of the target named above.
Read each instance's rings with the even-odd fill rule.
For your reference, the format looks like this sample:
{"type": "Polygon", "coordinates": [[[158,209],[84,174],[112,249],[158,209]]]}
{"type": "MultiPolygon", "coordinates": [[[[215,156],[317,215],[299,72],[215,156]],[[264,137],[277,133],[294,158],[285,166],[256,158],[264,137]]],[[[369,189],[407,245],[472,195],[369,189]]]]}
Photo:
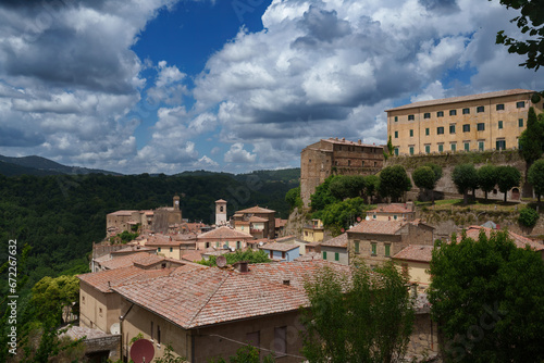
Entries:
{"type": "MultiPolygon", "coordinates": [[[[490,0],[491,1],[491,0],[490,0]]],[[[509,53],[527,54],[527,60],[520,65],[537,71],[544,65],[544,15],[542,0],[499,0],[506,8],[520,10],[521,14],[511,20],[523,34],[523,40],[517,40],[505,35],[505,30],[497,33],[496,43],[508,47],[509,53]]]]}

